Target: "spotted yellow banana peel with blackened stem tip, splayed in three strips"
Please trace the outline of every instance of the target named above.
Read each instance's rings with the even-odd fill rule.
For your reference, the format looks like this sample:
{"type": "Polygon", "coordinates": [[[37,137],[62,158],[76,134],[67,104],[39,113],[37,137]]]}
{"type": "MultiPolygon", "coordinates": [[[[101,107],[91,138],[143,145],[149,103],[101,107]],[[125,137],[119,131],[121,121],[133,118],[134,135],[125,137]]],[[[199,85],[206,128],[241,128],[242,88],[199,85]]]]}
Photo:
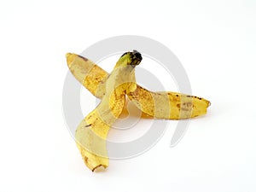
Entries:
{"type": "Polygon", "coordinates": [[[95,171],[108,167],[106,138],[114,121],[125,107],[125,95],[137,108],[158,119],[189,119],[207,113],[210,102],[198,96],[172,91],[154,92],[136,84],[134,67],[142,61],[137,52],[119,58],[108,74],[93,61],[68,53],[67,66],[84,87],[102,102],[79,124],[75,138],[84,163],[95,171]]]}

